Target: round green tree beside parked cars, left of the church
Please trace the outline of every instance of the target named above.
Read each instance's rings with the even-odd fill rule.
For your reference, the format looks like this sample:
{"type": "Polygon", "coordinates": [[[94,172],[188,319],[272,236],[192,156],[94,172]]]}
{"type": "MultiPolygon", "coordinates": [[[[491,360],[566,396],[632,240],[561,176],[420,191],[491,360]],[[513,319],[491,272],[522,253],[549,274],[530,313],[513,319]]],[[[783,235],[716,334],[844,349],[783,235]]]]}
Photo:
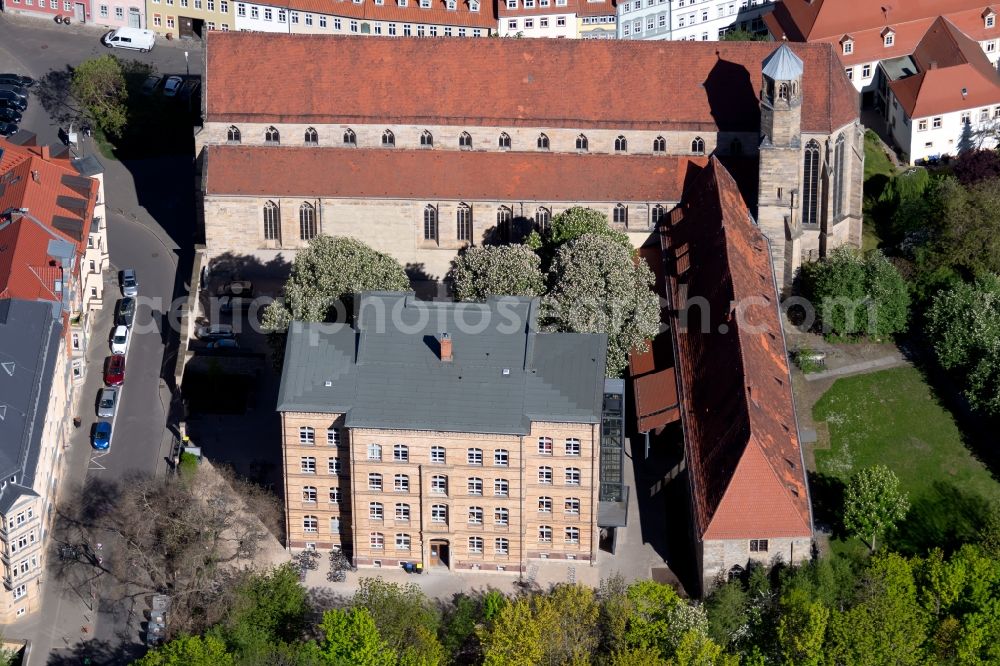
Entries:
{"type": "Polygon", "coordinates": [[[84,60],[73,70],[73,97],[105,134],[120,136],[128,122],[122,63],[113,55],[84,60]]]}

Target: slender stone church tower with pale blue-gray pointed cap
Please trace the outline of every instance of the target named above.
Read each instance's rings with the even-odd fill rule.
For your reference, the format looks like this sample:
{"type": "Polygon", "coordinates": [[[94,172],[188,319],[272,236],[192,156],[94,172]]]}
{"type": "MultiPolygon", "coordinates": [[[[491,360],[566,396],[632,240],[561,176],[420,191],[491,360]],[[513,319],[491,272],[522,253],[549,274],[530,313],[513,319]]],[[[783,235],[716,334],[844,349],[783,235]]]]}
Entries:
{"type": "Polygon", "coordinates": [[[802,60],[782,44],[764,60],[760,87],[757,222],[771,241],[774,273],[784,294],[801,264],[802,71],[802,60]]]}

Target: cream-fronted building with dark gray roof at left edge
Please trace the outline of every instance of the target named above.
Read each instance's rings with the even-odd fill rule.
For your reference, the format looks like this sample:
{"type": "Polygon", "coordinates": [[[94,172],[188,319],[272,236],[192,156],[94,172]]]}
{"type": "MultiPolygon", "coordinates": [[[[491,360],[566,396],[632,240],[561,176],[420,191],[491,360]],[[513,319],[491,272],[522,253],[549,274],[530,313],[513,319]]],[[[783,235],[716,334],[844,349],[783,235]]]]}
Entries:
{"type": "MultiPolygon", "coordinates": [[[[0,260],[4,258],[0,253],[0,260]]],[[[0,299],[0,622],[41,607],[71,386],[58,304],[0,299]]]]}

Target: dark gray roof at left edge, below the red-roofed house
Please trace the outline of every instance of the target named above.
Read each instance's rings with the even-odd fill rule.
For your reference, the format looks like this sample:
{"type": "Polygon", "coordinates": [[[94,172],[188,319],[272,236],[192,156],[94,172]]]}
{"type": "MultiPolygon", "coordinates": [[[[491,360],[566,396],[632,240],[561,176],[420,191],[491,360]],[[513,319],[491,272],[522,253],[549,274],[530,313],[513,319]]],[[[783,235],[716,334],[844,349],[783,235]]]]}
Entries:
{"type": "Polygon", "coordinates": [[[0,300],[0,513],[30,494],[62,323],[43,301],[0,300]]]}

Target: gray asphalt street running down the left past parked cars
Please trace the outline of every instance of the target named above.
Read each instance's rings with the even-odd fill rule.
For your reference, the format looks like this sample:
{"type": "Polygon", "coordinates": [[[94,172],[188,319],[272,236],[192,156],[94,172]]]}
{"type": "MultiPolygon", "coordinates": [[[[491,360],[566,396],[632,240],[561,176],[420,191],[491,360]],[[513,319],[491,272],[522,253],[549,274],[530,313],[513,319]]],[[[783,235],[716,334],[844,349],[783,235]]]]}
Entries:
{"type": "MultiPolygon", "coordinates": [[[[0,15],[0,71],[36,79],[51,71],[65,71],[109,52],[100,43],[103,32],[90,26],[66,27],[0,15]]],[[[150,53],[114,53],[149,62],[159,73],[202,73],[199,44],[160,40],[150,53]]],[[[35,132],[39,143],[58,141],[59,124],[34,94],[20,125],[35,132]]],[[[75,152],[91,154],[95,150],[92,143],[84,141],[75,152]]],[[[171,333],[167,313],[186,289],[194,237],[191,156],[127,163],[100,154],[97,158],[105,167],[111,272],[105,276],[105,307],[95,317],[91,332],[87,376],[77,414],[82,426],[67,452],[64,488],[82,483],[85,477],[114,480],[134,472],[165,472],[172,433],[166,427],[169,387],[162,377],[172,377],[176,353],[176,335],[171,333]],[[97,420],[95,404],[103,386],[103,361],[111,353],[113,309],[121,297],[117,271],[123,268],[138,272],[139,308],[111,448],[97,453],[90,446],[90,427],[97,420]]],[[[56,538],[58,534],[57,525],[56,538]]],[[[136,613],[141,613],[141,601],[138,609],[133,607],[108,581],[57,581],[56,560],[49,558],[42,611],[2,627],[3,633],[32,641],[28,666],[80,663],[84,657],[95,664],[127,661],[126,656],[135,654],[139,638],[141,617],[136,613]]]]}

